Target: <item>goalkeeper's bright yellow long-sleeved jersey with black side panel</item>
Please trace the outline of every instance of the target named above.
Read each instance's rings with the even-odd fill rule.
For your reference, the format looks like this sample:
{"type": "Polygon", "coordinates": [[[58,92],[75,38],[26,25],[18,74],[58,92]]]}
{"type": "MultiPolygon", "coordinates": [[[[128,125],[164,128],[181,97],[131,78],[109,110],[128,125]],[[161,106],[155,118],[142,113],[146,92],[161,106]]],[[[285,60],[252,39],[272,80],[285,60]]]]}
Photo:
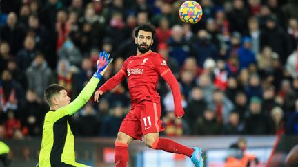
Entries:
{"type": "Polygon", "coordinates": [[[99,79],[92,77],[79,96],[70,104],[56,111],[48,111],[43,123],[43,136],[41,151],[39,153],[39,166],[85,166],[75,162],[74,136],[70,129],[68,119],[86,104],[95,91],[99,79]]]}

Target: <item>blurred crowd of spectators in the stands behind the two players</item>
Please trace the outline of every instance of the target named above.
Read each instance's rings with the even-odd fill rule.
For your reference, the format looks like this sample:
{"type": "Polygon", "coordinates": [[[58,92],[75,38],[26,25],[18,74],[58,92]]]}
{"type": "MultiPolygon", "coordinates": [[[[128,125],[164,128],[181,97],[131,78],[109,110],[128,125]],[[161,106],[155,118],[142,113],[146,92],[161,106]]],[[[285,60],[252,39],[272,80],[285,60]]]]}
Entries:
{"type": "MultiPolygon", "coordinates": [[[[1,0],[0,137],[41,136],[43,90],[77,97],[100,50],[115,59],[100,85],[136,53],[133,30],[155,25],[152,49],[181,86],[186,115],[157,85],[164,135],[298,134],[298,1],[200,0],[203,18],[179,19],[173,0],[1,0]]],[[[72,117],[78,136],[116,136],[129,111],[127,82],[72,117]]]]}

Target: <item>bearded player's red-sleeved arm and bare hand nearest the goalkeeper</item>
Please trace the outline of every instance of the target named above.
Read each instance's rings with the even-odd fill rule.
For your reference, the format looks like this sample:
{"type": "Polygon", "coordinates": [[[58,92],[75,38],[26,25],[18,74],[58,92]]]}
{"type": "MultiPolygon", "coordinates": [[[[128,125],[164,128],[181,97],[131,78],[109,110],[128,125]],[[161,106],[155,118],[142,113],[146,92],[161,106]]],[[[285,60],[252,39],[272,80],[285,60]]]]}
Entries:
{"type": "Polygon", "coordinates": [[[103,93],[106,93],[107,91],[110,91],[111,89],[119,85],[119,83],[122,82],[122,80],[124,80],[127,77],[127,74],[125,72],[126,62],[127,60],[123,63],[123,67],[120,69],[120,71],[117,72],[117,74],[112,76],[112,78],[107,80],[106,83],[104,83],[101,87],[99,87],[99,89],[97,89],[97,91],[95,91],[95,96],[94,96],[95,102],[99,102],[98,101],[99,96],[103,95],[103,93]]]}

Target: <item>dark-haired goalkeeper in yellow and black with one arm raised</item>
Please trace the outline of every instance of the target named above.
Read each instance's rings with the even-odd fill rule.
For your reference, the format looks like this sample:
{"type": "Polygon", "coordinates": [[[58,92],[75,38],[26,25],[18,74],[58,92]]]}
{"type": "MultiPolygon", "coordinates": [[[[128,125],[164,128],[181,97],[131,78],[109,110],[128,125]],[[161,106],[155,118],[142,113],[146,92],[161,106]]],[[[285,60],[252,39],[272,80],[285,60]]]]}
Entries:
{"type": "Polygon", "coordinates": [[[112,62],[112,58],[109,59],[109,56],[110,54],[106,52],[99,54],[97,71],[73,102],[70,102],[66,89],[61,85],[52,84],[45,90],[44,94],[50,111],[46,113],[43,124],[43,137],[39,154],[40,167],[86,166],[75,162],[74,136],[68,119],[92,96],[101,76],[112,62]]]}

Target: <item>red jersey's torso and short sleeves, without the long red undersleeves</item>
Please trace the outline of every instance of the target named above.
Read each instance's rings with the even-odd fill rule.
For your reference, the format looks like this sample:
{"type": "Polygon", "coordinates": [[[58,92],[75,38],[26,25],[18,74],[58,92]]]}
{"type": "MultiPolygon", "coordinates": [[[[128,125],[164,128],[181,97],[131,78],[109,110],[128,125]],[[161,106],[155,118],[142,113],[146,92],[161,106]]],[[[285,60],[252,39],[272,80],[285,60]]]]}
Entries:
{"type": "Polygon", "coordinates": [[[141,56],[130,56],[123,63],[122,69],[128,77],[128,90],[132,102],[150,100],[160,103],[157,93],[159,75],[170,71],[161,54],[150,52],[141,56]]]}

